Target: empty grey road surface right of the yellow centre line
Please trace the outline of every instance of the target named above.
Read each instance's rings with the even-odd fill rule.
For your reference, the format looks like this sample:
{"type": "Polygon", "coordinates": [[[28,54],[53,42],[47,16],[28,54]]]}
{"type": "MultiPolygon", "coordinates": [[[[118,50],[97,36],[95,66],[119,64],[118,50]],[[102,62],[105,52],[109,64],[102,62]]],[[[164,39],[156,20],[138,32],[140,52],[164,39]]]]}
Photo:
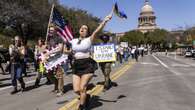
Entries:
{"type": "MultiPolygon", "coordinates": [[[[163,55],[140,59],[117,88],[93,98],[93,110],[194,110],[195,67],[163,55]]],[[[195,63],[195,61],[194,61],[195,63]]]]}

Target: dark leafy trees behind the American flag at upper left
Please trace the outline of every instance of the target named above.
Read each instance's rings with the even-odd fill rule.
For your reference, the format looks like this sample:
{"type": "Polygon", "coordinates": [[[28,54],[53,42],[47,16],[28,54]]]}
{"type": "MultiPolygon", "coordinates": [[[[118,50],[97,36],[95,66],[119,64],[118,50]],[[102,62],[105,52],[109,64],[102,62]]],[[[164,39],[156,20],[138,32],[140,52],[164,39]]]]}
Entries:
{"type": "Polygon", "coordinates": [[[53,3],[69,21],[76,37],[82,24],[94,30],[101,21],[87,11],[62,6],[58,0],[0,0],[0,34],[17,34],[30,40],[45,37],[53,3]]]}

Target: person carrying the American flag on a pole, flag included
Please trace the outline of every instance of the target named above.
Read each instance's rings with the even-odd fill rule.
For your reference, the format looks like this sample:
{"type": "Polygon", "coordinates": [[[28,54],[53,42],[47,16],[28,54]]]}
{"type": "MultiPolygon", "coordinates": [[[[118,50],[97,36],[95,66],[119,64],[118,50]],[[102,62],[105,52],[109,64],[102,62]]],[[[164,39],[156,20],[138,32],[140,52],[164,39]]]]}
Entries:
{"type": "Polygon", "coordinates": [[[48,23],[47,35],[46,35],[46,44],[48,51],[43,54],[42,60],[46,65],[50,61],[56,61],[55,65],[52,65],[52,69],[48,70],[47,66],[46,70],[49,71],[48,76],[49,79],[54,83],[54,90],[53,92],[57,93],[57,96],[63,95],[63,87],[64,87],[64,73],[68,66],[67,61],[61,59],[61,57],[57,57],[57,59],[49,60],[52,55],[63,56],[62,54],[68,54],[66,49],[66,45],[73,39],[73,34],[71,28],[67,22],[61,15],[61,13],[57,10],[57,8],[52,5],[50,19],[48,23]],[[54,37],[57,35],[58,37],[54,37]],[[50,40],[48,41],[48,37],[50,40]],[[61,39],[59,39],[59,37],[61,39]]]}

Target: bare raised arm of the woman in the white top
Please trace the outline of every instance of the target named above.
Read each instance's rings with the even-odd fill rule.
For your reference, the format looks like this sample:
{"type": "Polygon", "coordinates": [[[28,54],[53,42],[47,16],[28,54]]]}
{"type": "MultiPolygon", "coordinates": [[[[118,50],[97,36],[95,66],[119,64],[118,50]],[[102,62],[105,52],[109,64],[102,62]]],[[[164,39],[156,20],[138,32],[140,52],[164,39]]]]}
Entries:
{"type": "Polygon", "coordinates": [[[113,15],[113,9],[112,9],[112,11],[111,11],[111,13],[108,15],[108,16],[106,16],[105,18],[104,18],[104,20],[100,23],[100,25],[97,27],[97,29],[92,33],[92,35],[91,35],[91,41],[94,41],[94,39],[96,38],[96,35],[97,35],[97,33],[99,32],[99,31],[101,31],[101,29],[106,25],[106,23],[109,21],[109,20],[111,20],[112,19],[112,15],[113,15]]]}

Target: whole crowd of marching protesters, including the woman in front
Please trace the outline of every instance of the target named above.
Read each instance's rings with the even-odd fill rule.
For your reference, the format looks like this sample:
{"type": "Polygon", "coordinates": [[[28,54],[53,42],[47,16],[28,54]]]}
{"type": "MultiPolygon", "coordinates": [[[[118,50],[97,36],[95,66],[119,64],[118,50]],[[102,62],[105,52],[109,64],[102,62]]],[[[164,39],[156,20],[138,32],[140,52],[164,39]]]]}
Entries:
{"type": "MultiPolygon", "coordinates": [[[[72,69],[72,80],[74,92],[80,96],[79,110],[85,110],[88,107],[90,95],[87,94],[87,87],[90,80],[94,76],[94,72],[98,69],[98,64],[91,58],[91,46],[94,39],[99,37],[102,40],[102,44],[109,43],[110,36],[96,34],[104,27],[104,25],[112,18],[112,15],[108,15],[99,27],[90,35],[87,25],[82,25],[78,38],[73,39],[70,43],[64,44],[63,42],[54,43],[48,45],[44,39],[39,38],[34,49],[34,68],[36,72],[36,79],[34,87],[40,86],[40,80],[42,77],[46,77],[46,84],[53,83],[53,92],[57,96],[63,95],[64,87],[64,75],[69,68],[72,69]],[[46,71],[44,67],[45,60],[40,59],[40,55],[44,53],[46,49],[51,49],[53,46],[58,46],[60,49],[58,52],[68,55],[68,60],[65,64],[58,66],[52,71],[46,71]]],[[[27,76],[27,42],[21,39],[19,36],[15,36],[13,43],[9,46],[10,60],[7,62],[7,69],[11,74],[11,82],[13,91],[11,94],[18,92],[17,82],[21,84],[21,91],[25,91],[26,84],[23,80],[23,76],[27,76]]],[[[51,53],[50,53],[51,54],[51,53]]],[[[140,46],[123,47],[121,45],[116,46],[117,61],[119,63],[127,62],[129,58],[138,61],[139,56],[144,56],[144,48],[140,46]]],[[[45,54],[49,56],[49,54],[45,54]]],[[[99,67],[104,75],[104,90],[108,90],[112,86],[110,79],[111,66],[115,62],[102,62],[99,63],[99,67]]],[[[4,69],[2,67],[2,71],[4,69]]]]}

